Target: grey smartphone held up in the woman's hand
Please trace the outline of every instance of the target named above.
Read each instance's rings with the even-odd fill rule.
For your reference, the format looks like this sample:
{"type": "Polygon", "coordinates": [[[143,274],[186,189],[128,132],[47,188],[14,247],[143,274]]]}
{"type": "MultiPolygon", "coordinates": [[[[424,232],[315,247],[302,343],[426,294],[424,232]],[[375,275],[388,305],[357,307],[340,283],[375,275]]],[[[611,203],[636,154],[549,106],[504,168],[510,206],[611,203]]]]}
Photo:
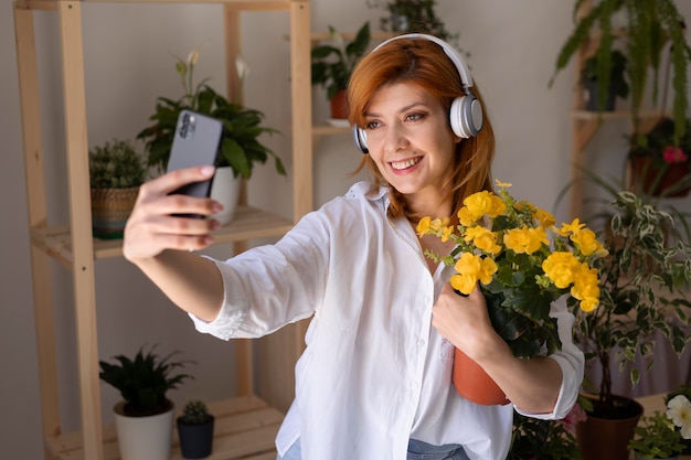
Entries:
{"type": "MultiPolygon", "coordinates": [[[[168,172],[203,164],[214,165],[222,136],[223,124],[217,119],[191,110],[182,110],[176,126],[168,172]]],[[[208,197],[211,194],[212,183],[213,176],[206,181],[183,185],[171,194],[208,197]]]]}

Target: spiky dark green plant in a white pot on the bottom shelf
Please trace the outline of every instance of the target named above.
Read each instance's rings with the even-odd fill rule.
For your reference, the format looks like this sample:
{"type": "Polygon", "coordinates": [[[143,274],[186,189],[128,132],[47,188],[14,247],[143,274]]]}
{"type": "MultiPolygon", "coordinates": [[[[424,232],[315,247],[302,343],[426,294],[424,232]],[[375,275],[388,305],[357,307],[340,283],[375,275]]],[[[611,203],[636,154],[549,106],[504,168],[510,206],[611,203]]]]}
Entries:
{"type": "Polygon", "coordinates": [[[134,359],[99,361],[99,378],[123,400],[115,405],[116,431],[123,460],[168,460],[172,445],[173,403],[167,397],[191,375],[176,373],[188,361],[173,361],[177,352],[160,357],[155,347],[139,349],[134,359]]]}

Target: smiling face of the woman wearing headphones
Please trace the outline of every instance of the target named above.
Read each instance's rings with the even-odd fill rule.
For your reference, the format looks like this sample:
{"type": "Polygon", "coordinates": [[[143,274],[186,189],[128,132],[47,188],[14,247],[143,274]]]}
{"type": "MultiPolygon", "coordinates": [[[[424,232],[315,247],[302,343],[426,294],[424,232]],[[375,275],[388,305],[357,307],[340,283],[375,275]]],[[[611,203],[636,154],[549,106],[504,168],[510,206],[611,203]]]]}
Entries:
{"type": "Polygon", "coordinates": [[[414,83],[395,83],[376,90],[364,115],[370,156],[384,179],[413,211],[448,215],[443,186],[450,182],[460,138],[442,104],[414,83]]]}

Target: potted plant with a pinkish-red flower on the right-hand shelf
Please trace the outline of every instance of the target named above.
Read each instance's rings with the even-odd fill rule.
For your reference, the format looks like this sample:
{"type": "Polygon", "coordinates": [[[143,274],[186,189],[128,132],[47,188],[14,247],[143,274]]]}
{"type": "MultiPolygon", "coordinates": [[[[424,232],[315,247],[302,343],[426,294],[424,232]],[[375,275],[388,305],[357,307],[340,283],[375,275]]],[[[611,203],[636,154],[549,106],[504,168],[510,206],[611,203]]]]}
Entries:
{"type": "Polygon", "coordinates": [[[674,120],[662,117],[641,139],[630,139],[634,190],[662,197],[687,196],[691,189],[691,120],[674,145],[674,120]]]}

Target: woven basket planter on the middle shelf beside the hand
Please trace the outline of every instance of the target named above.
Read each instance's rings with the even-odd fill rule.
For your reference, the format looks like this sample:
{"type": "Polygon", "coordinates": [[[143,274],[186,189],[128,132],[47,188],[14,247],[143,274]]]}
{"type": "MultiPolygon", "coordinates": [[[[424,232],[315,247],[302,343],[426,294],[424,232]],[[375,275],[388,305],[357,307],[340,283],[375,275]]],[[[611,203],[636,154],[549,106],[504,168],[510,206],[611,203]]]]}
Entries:
{"type": "Polygon", "coordinates": [[[92,227],[97,238],[121,238],[135,207],[138,186],[92,189],[92,227]]]}

